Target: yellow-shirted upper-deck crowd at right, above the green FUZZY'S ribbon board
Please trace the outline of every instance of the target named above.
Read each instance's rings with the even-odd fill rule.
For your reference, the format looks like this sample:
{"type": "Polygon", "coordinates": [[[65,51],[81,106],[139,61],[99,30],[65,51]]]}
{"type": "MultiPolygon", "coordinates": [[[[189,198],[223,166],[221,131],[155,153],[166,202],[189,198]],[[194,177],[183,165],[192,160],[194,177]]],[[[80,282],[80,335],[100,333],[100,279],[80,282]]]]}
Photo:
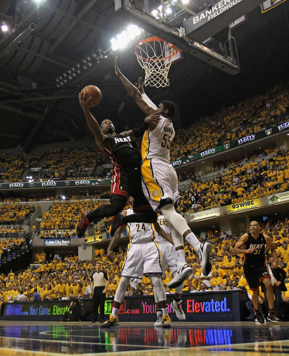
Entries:
{"type": "Polygon", "coordinates": [[[289,114],[288,89],[289,83],[280,84],[179,129],[171,146],[172,161],[275,126],[289,114]]]}

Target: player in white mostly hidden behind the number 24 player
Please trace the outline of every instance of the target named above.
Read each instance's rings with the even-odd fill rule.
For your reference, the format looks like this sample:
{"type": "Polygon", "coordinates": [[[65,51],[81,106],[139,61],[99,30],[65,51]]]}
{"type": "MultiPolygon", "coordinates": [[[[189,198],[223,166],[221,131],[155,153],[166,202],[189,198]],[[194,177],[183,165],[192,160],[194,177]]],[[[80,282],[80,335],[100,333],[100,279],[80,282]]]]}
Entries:
{"type": "MultiPolygon", "coordinates": [[[[171,230],[165,221],[164,215],[159,215],[158,223],[160,227],[168,235],[171,234],[171,230]]],[[[172,241],[169,242],[158,234],[156,235],[155,242],[159,245],[161,251],[162,271],[163,271],[162,279],[165,279],[166,266],[170,267],[171,275],[174,276],[175,273],[177,272],[177,253],[176,253],[175,246],[172,244],[172,241]]],[[[171,303],[171,307],[175,310],[177,318],[182,321],[185,321],[186,316],[181,307],[181,302],[182,302],[181,295],[182,295],[183,288],[184,288],[184,283],[182,283],[179,287],[176,287],[175,298],[171,303]]],[[[156,309],[157,309],[156,310],[157,319],[155,322],[155,326],[160,326],[162,322],[162,311],[159,306],[159,303],[156,303],[156,309]]]]}

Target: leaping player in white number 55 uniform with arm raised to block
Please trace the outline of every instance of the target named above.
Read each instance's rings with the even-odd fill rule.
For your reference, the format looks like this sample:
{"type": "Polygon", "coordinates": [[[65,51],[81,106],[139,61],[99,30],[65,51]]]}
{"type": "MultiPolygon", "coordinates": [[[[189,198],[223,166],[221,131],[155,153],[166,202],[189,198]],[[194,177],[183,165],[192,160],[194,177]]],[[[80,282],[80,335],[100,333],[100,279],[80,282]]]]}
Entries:
{"type": "MultiPolygon", "coordinates": [[[[156,113],[155,120],[160,118],[158,126],[151,126],[146,130],[142,143],[143,166],[141,173],[143,176],[143,190],[146,198],[155,211],[161,211],[166,219],[166,223],[171,229],[172,239],[176,248],[178,263],[175,277],[167,285],[169,288],[181,286],[187,277],[192,273],[192,269],[185,260],[184,239],[193,247],[195,253],[201,260],[202,272],[207,276],[212,269],[210,254],[212,245],[202,244],[190,230],[186,220],[176,212],[180,195],[177,187],[177,174],[170,165],[170,144],[175,136],[171,117],[175,114],[176,107],[171,101],[162,101],[158,107],[146,96],[143,91],[142,79],[139,79],[140,93],[135,85],[131,84],[118,68],[117,57],[115,58],[115,73],[122,81],[128,93],[135,100],[146,115],[156,113]]],[[[112,225],[112,234],[121,224],[138,221],[138,214],[133,214],[122,218],[117,215],[112,225]]]]}

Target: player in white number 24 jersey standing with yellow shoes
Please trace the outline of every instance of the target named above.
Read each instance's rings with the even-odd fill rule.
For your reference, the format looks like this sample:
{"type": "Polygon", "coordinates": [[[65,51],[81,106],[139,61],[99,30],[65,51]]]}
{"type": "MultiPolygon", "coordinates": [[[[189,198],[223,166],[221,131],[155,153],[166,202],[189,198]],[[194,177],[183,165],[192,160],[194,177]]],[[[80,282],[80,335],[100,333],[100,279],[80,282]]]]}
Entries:
{"type": "MultiPolygon", "coordinates": [[[[133,214],[132,209],[124,210],[121,213],[123,216],[133,214]]],[[[156,231],[161,236],[169,239],[169,236],[161,229],[158,222],[155,223],[155,228],[152,224],[146,223],[129,223],[128,230],[130,243],[128,245],[127,256],[125,257],[122,267],[122,277],[115,292],[112,313],[109,319],[100,325],[101,328],[109,328],[113,325],[118,325],[118,311],[120,304],[125,295],[125,291],[129,285],[131,278],[142,278],[143,275],[150,277],[154,284],[155,301],[159,303],[162,310],[162,321],[159,326],[169,328],[171,319],[167,313],[166,293],[162,286],[161,275],[161,253],[158,244],[156,244],[156,231]]],[[[107,249],[107,256],[112,257],[112,249],[118,244],[120,235],[122,234],[123,226],[120,226],[114,234],[112,241],[107,249]]]]}

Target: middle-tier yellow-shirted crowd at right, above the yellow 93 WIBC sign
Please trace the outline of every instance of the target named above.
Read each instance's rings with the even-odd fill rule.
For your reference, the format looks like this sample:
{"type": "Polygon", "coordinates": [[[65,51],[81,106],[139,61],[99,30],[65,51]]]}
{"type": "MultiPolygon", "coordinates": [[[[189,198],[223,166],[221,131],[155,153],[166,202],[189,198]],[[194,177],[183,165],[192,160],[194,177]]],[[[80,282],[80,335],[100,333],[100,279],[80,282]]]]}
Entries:
{"type": "Polygon", "coordinates": [[[180,193],[179,213],[194,213],[289,190],[289,152],[276,148],[268,153],[273,157],[266,156],[260,164],[245,159],[224,166],[215,179],[198,180],[192,175],[190,189],[180,193]]]}

